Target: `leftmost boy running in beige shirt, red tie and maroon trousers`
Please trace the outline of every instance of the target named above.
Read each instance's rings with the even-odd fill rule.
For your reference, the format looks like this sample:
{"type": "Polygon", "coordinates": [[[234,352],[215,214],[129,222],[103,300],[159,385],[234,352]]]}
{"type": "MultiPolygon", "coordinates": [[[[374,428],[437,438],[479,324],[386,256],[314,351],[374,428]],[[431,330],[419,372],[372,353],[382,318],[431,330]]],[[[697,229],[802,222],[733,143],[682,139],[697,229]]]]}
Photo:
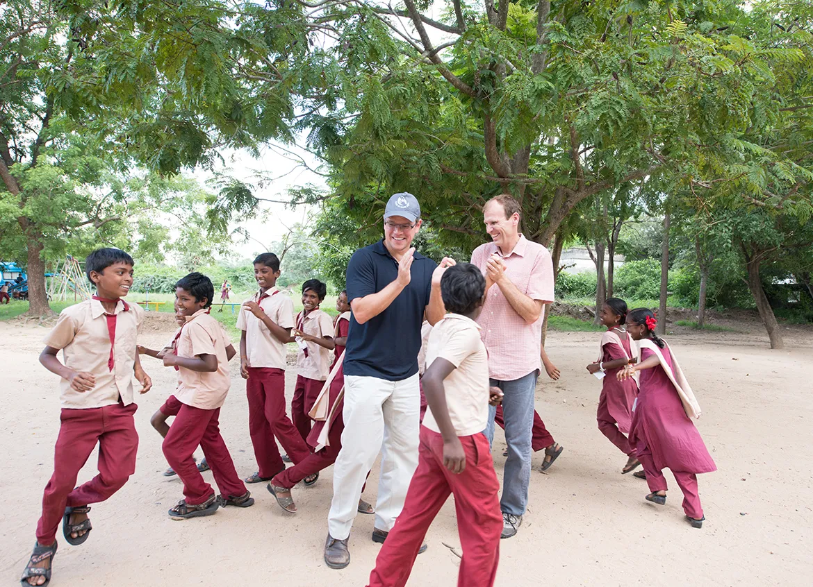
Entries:
{"type": "Polygon", "coordinates": [[[41,364],[62,378],[62,423],[54,474],[42,496],[37,543],[21,579],[28,585],[50,581],[59,522],[69,544],[85,542],[92,529],[88,505],[110,498],[135,472],[133,375],[142,394],[152,386],[136,352],[144,310],[121,299],[133,285],[133,257],[118,248],[100,248],[88,255],[85,271],[96,295],[63,309],[40,355],[41,364]],[[63,363],[57,357],[60,349],[63,363]],[[76,487],[80,468],[97,444],[98,475],[76,487]]]}

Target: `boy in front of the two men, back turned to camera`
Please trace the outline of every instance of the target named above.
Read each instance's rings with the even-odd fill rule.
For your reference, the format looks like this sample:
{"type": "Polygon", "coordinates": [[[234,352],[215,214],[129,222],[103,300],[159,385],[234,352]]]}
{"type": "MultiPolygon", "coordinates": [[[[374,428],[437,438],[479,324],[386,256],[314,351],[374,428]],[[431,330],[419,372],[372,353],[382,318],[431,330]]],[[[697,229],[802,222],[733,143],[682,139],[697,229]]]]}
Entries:
{"type": "Polygon", "coordinates": [[[489,389],[485,345],[475,319],[485,279],[475,265],[460,263],[441,278],[446,316],[429,335],[422,382],[429,407],[420,429],[420,455],[401,515],[381,547],[370,587],[406,585],[424,535],[454,494],[463,557],[459,587],[490,587],[497,575],[502,513],[499,482],[488,438],[488,406],[500,391],[489,389]]]}

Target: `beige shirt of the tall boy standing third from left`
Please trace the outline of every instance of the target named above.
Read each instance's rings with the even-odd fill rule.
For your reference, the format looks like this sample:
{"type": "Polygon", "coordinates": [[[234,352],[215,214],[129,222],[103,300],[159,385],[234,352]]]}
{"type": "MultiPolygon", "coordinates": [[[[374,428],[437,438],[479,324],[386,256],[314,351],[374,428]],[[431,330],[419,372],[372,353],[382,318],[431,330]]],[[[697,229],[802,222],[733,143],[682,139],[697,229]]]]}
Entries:
{"type": "MultiPolygon", "coordinates": [[[[259,291],[250,300],[258,302],[272,322],[280,328],[293,328],[293,302],[276,287],[260,296],[259,291]],[[262,297],[262,300],[259,300],[262,297]],[[259,300],[259,301],[258,301],[259,300]]],[[[285,356],[288,354],[284,343],[253,313],[240,306],[237,314],[237,330],[246,330],[246,359],[249,367],[285,370],[285,356]]]]}

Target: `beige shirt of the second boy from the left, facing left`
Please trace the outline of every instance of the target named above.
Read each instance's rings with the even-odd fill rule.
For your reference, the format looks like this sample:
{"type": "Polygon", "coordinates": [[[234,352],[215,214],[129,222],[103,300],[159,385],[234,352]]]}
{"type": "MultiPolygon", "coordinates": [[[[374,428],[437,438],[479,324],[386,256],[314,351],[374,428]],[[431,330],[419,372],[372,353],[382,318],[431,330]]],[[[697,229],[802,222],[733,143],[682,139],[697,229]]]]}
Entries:
{"type": "Polygon", "coordinates": [[[217,370],[202,373],[178,366],[178,389],[175,397],[181,404],[214,410],[226,401],[231,378],[228,373],[226,347],[231,344],[225,330],[208,309],[198,310],[186,317],[186,324],[180,329],[180,337],[175,345],[177,356],[192,359],[198,355],[215,355],[217,370]]]}

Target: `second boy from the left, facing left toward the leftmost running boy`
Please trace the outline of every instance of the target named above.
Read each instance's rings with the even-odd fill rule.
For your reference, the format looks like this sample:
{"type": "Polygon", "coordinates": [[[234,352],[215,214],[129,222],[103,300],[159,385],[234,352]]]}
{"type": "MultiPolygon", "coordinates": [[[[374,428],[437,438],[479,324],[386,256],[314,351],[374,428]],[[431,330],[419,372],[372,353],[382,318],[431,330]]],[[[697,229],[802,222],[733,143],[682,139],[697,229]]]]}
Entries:
{"type": "Polygon", "coordinates": [[[176,335],[174,353],[163,355],[163,364],[178,370],[174,397],[180,403],[175,421],[163,439],[163,455],[184,481],[184,496],[169,510],[173,520],[211,516],[220,506],[250,507],[254,499],[237,476],[232,455],[220,436],[220,407],[231,379],[226,347],[228,338],[220,322],[211,317],[215,287],[206,275],[194,272],[175,287],[175,311],[186,322],[176,335]],[[220,488],[215,496],[203,481],[192,455],[198,444],[220,488]]]}

